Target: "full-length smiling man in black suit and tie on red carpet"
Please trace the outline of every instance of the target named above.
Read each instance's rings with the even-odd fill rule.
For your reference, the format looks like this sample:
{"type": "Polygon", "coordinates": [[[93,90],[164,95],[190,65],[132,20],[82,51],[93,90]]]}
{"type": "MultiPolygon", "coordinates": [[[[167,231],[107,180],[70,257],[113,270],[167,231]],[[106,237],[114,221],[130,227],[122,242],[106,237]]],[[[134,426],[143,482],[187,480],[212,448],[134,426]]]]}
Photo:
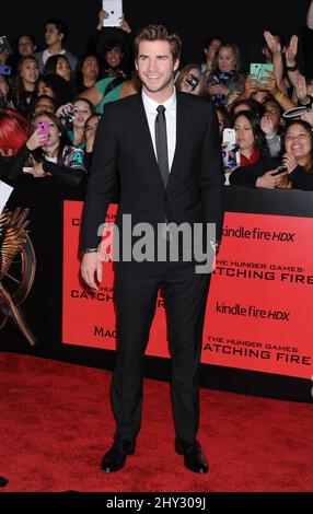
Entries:
{"type": "MultiPolygon", "coordinates": [[[[120,200],[116,225],[120,229],[121,243],[125,245],[131,232],[123,226],[124,217],[131,214],[132,235],[140,235],[142,223],[149,223],[155,233],[161,226],[158,244],[165,244],[166,248],[166,259],[159,255],[156,258],[155,253],[151,257],[156,236],[150,237],[141,246],[142,254],[144,247],[148,256],[142,260],[142,254],[138,255],[138,237],[136,244],[132,238],[123,248],[123,258],[115,262],[118,351],[112,399],[117,429],[115,442],[102,459],[102,469],[107,472],[121,469],[127,456],[135,452],[141,421],[142,357],[160,287],[165,297],[172,353],[175,449],[184,455],[188,469],[208,471],[196,434],[202,325],[210,274],[201,266],[199,269],[206,272],[196,272],[195,260],[200,259],[184,257],[190,242],[185,244],[179,240],[178,259],[172,260],[169,246],[175,237],[164,227],[170,222],[189,227],[215,224],[216,237],[207,246],[218,244],[223,218],[223,173],[212,103],[175,91],[173,73],[178,67],[179,52],[179,37],[169,34],[162,25],[150,25],[139,33],[135,58],[142,92],[106,105],[88,185],[81,272],[91,288],[96,289],[96,279],[102,280],[97,230],[105,219],[117,175],[120,200]],[[151,248],[147,249],[149,245],[151,248]]],[[[195,235],[194,238],[198,246],[199,238],[195,235]]]]}

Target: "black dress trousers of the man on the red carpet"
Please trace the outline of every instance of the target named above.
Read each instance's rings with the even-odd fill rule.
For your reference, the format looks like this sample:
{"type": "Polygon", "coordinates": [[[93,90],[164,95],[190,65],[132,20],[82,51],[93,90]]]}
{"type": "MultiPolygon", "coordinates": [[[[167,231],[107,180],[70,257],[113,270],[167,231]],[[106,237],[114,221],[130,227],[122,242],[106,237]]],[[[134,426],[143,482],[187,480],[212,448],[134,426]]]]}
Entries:
{"type": "MultiPolygon", "coordinates": [[[[115,437],[135,439],[142,409],[142,361],[158,290],[163,289],[172,355],[176,436],[194,441],[199,425],[199,362],[210,274],[192,262],[116,264],[118,349],[112,384],[115,437]]],[[[155,413],[158,416],[158,413],[155,413]]]]}

